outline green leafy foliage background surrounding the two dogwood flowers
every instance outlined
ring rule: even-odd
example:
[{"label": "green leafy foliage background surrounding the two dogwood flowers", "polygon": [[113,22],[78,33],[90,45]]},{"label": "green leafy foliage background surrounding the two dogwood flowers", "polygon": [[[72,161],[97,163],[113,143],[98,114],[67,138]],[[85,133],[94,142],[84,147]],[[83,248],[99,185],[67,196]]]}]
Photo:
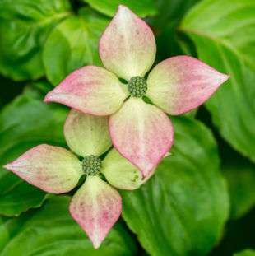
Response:
[{"label": "green leafy foliage background surrounding the two dogwood flowers", "polygon": [[[67,207],[0,168],[1,256],[255,255],[254,0],[0,0],[0,165],[39,143],[67,147],[68,108],[44,95],[102,65],[100,35],[118,4],[151,26],[155,63],[185,54],[231,77],[197,111],[169,117],[172,156],[136,191],[94,250]],[[254,251],[253,251],[254,249]]]}]

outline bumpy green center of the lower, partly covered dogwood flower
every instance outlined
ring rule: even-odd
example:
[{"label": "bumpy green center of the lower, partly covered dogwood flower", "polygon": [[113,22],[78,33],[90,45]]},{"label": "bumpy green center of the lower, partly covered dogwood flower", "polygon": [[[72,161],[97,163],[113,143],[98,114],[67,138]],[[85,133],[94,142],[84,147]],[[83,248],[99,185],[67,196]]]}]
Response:
[{"label": "bumpy green center of the lower, partly covered dogwood flower", "polygon": [[97,175],[101,171],[101,160],[98,156],[85,156],[82,161],[82,170],[86,175]]}]

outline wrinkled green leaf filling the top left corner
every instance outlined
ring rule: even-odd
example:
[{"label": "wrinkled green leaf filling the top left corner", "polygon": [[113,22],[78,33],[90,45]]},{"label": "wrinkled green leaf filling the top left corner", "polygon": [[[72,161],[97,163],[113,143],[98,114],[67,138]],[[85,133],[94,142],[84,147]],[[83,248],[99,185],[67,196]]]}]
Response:
[{"label": "wrinkled green leaf filling the top left corner", "polygon": [[67,0],[0,2],[0,71],[21,81],[44,75],[42,47],[50,31],[71,14]]}]

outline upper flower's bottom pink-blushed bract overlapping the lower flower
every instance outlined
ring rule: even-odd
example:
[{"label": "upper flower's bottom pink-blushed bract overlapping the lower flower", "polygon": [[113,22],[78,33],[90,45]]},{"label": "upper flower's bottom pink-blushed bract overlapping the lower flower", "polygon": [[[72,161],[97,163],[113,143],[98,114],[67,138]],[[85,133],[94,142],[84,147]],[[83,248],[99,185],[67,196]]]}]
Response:
[{"label": "upper flower's bottom pink-blushed bract overlapping the lower flower", "polygon": [[131,97],[109,118],[109,134],[116,150],[146,177],[174,142],[174,128],[165,113]]}]

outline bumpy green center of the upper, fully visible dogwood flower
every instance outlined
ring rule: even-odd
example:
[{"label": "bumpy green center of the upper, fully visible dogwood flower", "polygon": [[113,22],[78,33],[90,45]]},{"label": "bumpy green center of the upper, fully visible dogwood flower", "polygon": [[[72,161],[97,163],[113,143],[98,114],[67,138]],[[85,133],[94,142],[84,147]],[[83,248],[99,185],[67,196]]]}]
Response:
[{"label": "bumpy green center of the upper, fully visible dogwood flower", "polygon": [[147,83],[144,77],[132,77],[128,81],[128,91],[133,97],[142,97],[146,94]]}]

